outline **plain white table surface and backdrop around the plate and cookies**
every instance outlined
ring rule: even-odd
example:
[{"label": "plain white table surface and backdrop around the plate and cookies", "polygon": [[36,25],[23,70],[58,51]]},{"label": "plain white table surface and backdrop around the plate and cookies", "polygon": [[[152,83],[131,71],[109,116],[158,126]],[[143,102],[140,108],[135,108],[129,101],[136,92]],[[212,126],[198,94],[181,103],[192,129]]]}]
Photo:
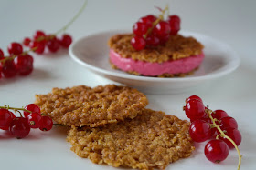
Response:
[{"label": "plain white table surface and backdrop around the plate and cookies", "polygon": [[[13,41],[22,41],[37,29],[54,33],[80,9],[83,0],[1,0],[0,48]],[[199,95],[212,109],[223,109],[236,118],[242,134],[241,169],[256,169],[256,1],[240,0],[90,0],[80,18],[69,27],[74,40],[84,35],[117,28],[131,28],[141,16],[157,14],[154,6],[170,6],[171,14],[180,15],[182,29],[212,36],[236,50],[240,67],[232,74],[215,80],[207,89],[179,95],[147,95],[148,107],[187,119],[182,111],[184,99]],[[52,87],[73,85],[106,85],[113,82],[93,75],[69,58],[68,51],[57,55],[33,55],[35,69],[31,75],[0,80],[0,105],[23,106],[33,103],[35,94],[48,93]],[[69,150],[65,132],[53,128],[44,133],[32,130],[22,140],[0,131],[1,169],[117,169],[94,165]],[[235,150],[219,165],[209,162],[203,153],[204,144],[187,159],[166,169],[236,169]]]}]

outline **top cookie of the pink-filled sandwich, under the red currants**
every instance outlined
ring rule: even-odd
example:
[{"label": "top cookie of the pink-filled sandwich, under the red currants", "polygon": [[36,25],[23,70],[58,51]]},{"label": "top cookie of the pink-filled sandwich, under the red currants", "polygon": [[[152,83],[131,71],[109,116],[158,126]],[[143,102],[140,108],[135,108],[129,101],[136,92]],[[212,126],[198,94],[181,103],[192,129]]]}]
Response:
[{"label": "top cookie of the pink-filled sandwich, under the red currants", "polygon": [[108,44],[123,58],[132,58],[151,63],[163,63],[168,60],[177,60],[191,55],[199,55],[204,48],[195,38],[182,35],[171,35],[165,45],[145,48],[136,51],[131,45],[133,34],[113,35]]}]

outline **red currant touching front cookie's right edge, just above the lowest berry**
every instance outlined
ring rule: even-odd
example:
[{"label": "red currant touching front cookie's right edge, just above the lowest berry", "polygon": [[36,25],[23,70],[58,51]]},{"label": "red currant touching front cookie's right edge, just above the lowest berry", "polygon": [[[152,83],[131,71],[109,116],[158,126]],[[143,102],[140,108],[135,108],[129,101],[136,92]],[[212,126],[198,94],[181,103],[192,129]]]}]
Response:
[{"label": "red currant touching front cookie's right edge, just above the lowest berry", "polygon": [[211,136],[210,125],[203,120],[196,120],[189,127],[189,135],[195,142],[204,142]]}]

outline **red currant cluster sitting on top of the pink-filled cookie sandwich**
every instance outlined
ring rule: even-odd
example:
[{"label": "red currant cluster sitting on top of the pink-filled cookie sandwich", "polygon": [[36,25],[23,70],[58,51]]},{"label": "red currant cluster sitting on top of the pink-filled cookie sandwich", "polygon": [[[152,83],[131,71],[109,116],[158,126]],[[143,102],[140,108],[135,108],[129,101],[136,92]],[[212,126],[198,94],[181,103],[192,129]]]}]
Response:
[{"label": "red currant cluster sitting on top of the pink-filled cookie sandwich", "polygon": [[[166,9],[165,9],[166,10]],[[164,20],[163,15],[146,15],[133,25],[134,37],[131,45],[135,50],[143,50],[146,46],[154,47],[165,45],[170,35],[176,35],[180,29],[180,18],[177,15],[168,15]]]}]

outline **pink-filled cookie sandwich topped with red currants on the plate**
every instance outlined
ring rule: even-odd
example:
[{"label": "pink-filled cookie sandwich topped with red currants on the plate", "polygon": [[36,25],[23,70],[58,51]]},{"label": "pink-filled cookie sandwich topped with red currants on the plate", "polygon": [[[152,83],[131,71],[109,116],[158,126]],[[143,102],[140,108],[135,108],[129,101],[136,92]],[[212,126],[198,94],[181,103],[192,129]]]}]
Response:
[{"label": "pink-filled cookie sandwich topped with red currants on the plate", "polygon": [[[165,13],[165,10],[162,10]],[[194,37],[179,35],[180,18],[146,15],[133,25],[133,33],[113,35],[112,68],[133,75],[173,77],[192,74],[202,64],[203,48]]]}]

